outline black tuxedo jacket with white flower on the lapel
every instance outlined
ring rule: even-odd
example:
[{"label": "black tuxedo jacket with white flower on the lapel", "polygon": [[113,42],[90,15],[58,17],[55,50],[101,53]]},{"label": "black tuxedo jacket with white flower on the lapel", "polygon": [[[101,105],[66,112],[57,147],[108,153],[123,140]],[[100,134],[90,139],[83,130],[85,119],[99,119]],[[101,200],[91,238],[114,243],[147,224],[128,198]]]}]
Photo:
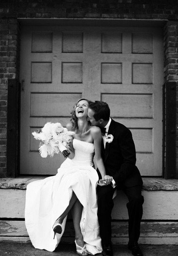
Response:
[{"label": "black tuxedo jacket with white flower on the lapel", "polygon": [[104,148],[102,140],[101,148],[106,174],[113,177],[118,188],[142,186],[143,181],[135,165],[136,151],[131,131],[112,119],[108,130],[109,134],[113,135],[113,141],[107,142]]}]

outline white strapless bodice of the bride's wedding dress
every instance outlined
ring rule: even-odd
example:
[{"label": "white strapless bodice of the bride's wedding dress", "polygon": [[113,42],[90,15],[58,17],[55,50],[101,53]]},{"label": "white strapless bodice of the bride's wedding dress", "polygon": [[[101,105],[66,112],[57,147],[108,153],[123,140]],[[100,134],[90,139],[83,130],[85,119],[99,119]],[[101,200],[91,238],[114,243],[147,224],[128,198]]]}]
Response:
[{"label": "white strapless bodice of the bride's wedding dress", "polygon": [[80,165],[94,166],[94,144],[85,142],[82,140],[73,139],[73,148],[75,150],[75,156],[72,161]]}]

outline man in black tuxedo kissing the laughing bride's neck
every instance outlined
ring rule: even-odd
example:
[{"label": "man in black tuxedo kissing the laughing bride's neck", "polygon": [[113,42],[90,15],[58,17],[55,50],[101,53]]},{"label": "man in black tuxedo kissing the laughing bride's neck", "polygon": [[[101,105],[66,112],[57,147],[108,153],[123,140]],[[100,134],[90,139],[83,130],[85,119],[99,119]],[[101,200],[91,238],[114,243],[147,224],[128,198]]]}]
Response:
[{"label": "man in black tuxedo kissing the laughing bride's neck", "polygon": [[[136,151],[132,134],[126,126],[110,118],[106,102],[95,101],[89,104],[88,119],[92,125],[99,126],[102,132],[101,154],[109,185],[98,186],[98,220],[104,256],[113,255],[111,245],[111,212],[115,188],[122,189],[128,198],[129,242],[133,255],[143,255],[138,245],[140,222],[143,214],[144,198],[141,195],[143,181],[136,167]],[[108,138],[109,137],[109,138]],[[99,179],[101,175],[98,172]],[[104,180],[103,180],[104,181]],[[103,184],[104,185],[104,184]]]}]

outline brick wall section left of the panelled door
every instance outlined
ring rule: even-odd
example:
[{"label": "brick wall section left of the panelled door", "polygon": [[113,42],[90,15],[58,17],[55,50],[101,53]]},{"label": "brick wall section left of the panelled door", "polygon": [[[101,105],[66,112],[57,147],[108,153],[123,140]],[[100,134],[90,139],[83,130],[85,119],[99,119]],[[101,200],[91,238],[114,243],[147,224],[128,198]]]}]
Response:
[{"label": "brick wall section left of the panelled door", "polygon": [[17,19],[0,20],[0,177],[6,176],[7,85],[19,72],[18,35]]}]

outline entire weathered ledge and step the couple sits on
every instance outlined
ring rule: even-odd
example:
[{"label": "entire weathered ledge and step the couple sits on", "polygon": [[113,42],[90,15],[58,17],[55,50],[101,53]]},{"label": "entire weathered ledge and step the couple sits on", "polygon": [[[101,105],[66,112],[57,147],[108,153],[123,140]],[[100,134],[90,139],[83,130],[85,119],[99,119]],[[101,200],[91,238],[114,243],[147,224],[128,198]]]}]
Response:
[{"label": "entire weathered ledge and step the couple sits on", "polygon": [[[45,177],[0,179],[0,241],[30,242],[24,225],[26,185]],[[143,244],[178,244],[178,182],[161,178],[144,178],[143,218],[140,242]],[[127,197],[117,191],[112,211],[112,241],[128,242]],[[73,243],[73,225],[68,215],[63,242]]]}]

